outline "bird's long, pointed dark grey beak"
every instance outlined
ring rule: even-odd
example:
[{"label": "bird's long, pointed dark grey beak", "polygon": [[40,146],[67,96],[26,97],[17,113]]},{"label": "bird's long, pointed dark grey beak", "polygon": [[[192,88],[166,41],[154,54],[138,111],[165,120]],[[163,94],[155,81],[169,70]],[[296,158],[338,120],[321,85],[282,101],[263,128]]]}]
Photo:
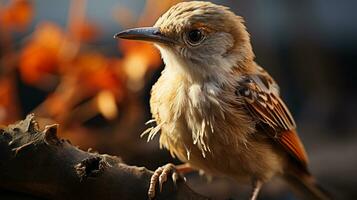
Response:
[{"label": "bird's long, pointed dark grey beak", "polygon": [[128,40],[143,40],[150,42],[158,42],[163,44],[175,44],[176,41],[164,36],[159,28],[156,27],[143,27],[133,28],[122,31],[114,35],[114,38],[122,38]]}]

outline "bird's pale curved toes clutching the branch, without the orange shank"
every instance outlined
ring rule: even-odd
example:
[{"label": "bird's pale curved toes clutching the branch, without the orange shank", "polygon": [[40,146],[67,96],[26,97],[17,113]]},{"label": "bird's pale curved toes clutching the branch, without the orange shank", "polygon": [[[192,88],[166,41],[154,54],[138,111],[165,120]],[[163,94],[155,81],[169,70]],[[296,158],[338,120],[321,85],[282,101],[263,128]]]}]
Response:
[{"label": "bird's pale curved toes clutching the branch, without the orange shank", "polygon": [[167,177],[171,174],[171,179],[176,186],[176,182],[181,178],[178,173],[176,166],[169,163],[155,170],[154,174],[151,176],[150,186],[148,190],[149,199],[155,197],[156,184],[159,182],[160,192],[162,192],[162,186],[167,181]]}]

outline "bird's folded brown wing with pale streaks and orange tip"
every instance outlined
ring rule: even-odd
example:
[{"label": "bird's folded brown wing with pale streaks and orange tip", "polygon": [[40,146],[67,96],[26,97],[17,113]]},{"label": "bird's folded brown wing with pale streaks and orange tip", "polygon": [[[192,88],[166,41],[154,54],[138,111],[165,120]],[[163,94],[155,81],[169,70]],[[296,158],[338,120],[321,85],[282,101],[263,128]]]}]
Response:
[{"label": "bird's folded brown wing with pale streaks and orange tip", "polygon": [[263,70],[243,76],[238,81],[236,94],[244,99],[245,107],[257,121],[257,126],[306,168],[308,158],[295,131],[295,121],[271,76]]}]

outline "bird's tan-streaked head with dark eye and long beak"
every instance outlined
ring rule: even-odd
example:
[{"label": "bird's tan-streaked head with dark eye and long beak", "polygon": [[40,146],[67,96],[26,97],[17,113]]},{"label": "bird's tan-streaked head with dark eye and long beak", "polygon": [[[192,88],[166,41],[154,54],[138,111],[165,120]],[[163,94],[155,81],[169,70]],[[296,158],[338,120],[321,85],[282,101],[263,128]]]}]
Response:
[{"label": "bird's tan-streaked head with dark eye and long beak", "polygon": [[210,2],[176,4],[153,27],[125,30],[115,37],[153,42],[166,67],[193,79],[218,78],[254,58],[243,19]]}]

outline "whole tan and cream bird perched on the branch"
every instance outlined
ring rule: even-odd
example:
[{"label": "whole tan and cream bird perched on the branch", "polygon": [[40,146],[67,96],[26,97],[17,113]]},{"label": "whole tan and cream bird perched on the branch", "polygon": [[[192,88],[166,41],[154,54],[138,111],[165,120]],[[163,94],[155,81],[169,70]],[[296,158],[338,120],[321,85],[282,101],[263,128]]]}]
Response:
[{"label": "whole tan and cream bird perched on the branch", "polygon": [[278,83],[255,61],[245,21],[230,8],[181,2],[152,27],[115,38],[152,42],[165,64],[153,85],[155,122],[143,135],[160,134],[160,147],[184,164],[159,167],[149,199],[169,176],[203,171],[251,184],[251,200],[271,178],[286,180],[307,199],[330,199],[308,169],[308,156]]}]

